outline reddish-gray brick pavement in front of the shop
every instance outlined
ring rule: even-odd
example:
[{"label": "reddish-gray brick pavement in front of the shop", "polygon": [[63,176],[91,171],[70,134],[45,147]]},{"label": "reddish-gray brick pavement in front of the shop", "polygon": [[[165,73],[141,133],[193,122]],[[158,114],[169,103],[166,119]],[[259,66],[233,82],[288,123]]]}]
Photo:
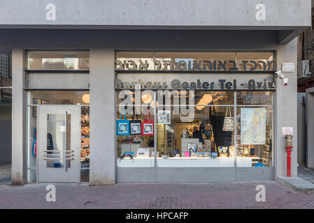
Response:
[{"label": "reddish-gray brick pavement in front of the shop", "polygon": [[[266,201],[257,202],[256,185]],[[45,184],[0,185],[0,208],[314,208],[314,194],[294,192],[275,181],[215,184],[55,184],[57,201],[45,201]]]}]

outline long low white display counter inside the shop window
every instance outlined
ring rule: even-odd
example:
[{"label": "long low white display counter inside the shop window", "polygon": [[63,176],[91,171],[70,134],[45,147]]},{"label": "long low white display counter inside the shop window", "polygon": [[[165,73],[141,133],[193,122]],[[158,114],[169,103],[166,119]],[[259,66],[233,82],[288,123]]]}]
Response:
[{"label": "long low white display counter inside the shop window", "polygon": [[[234,157],[157,157],[157,167],[234,167]],[[236,167],[252,167],[255,157],[236,158]],[[154,157],[117,159],[117,167],[155,167]]]}]

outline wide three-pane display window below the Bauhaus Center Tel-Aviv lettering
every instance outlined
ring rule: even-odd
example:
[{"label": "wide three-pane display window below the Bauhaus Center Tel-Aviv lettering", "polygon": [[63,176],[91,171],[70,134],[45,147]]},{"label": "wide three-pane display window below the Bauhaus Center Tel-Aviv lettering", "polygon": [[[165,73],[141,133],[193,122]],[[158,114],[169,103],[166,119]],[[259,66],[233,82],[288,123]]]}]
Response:
[{"label": "wide three-pane display window below the Bauhaus Center Tel-Aviv lettering", "polygon": [[116,92],[117,167],[272,166],[269,91]]}]

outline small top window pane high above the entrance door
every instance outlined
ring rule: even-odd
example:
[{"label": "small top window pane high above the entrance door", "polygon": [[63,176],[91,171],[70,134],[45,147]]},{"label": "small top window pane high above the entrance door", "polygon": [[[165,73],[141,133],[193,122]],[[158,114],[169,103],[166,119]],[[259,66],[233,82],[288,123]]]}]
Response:
[{"label": "small top window pane high above the entrance door", "polygon": [[89,51],[29,51],[29,70],[89,70]]}]

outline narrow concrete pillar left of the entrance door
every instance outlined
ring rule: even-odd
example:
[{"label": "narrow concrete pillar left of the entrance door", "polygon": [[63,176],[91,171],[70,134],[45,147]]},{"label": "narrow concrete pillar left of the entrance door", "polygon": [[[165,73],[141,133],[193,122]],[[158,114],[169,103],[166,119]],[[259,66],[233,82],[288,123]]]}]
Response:
[{"label": "narrow concrete pillar left of the entrance door", "polygon": [[12,184],[26,180],[26,93],[23,90],[24,50],[12,49]]}]

